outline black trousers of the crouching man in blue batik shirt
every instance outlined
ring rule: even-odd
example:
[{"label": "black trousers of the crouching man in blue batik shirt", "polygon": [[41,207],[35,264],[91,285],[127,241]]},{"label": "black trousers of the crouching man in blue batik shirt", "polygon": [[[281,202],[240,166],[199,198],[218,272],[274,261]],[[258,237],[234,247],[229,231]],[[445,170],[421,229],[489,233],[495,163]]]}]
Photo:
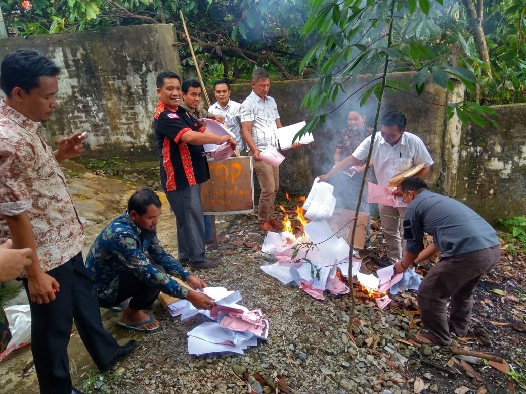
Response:
[{"label": "black trousers of the crouching man in blue batik shirt", "polygon": [[[146,254],[150,262],[153,261],[149,254]],[[160,264],[154,264],[154,267],[159,271],[166,273],[165,268]],[[107,308],[117,306],[125,299],[130,299],[129,307],[131,309],[151,309],[154,305],[160,289],[149,287],[147,284],[139,281],[131,269],[124,269],[119,274],[119,291],[117,299],[114,302],[108,301],[104,298],[99,298],[100,306]]]}]

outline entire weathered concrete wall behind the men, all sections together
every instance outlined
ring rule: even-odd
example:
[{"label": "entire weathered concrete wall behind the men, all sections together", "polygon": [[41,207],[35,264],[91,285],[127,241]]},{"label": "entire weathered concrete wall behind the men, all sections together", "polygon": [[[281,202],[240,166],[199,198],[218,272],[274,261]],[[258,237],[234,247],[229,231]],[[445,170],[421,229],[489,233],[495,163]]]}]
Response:
[{"label": "entire weathered concrete wall behind the men, all sections together", "polygon": [[[52,120],[43,126],[46,140],[58,140],[77,131],[88,131],[92,154],[120,149],[125,155],[151,152],[158,155],[151,122],[157,103],[155,77],[159,71],[180,70],[171,25],[127,26],[48,36],[0,40],[0,56],[16,48],[31,47],[52,57],[63,67],[59,76],[59,107]],[[412,85],[413,74],[391,74],[389,79]],[[348,83],[342,102],[365,86],[370,77]],[[313,80],[273,81],[270,96],[278,103],[284,125],[309,120],[301,100]],[[249,84],[232,85],[232,99],[242,101]],[[414,92],[414,89],[412,89]],[[209,96],[214,95],[209,89]],[[310,148],[284,152],[281,189],[295,195],[306,194],[313,179],[332,165],[336,137],[347,127],[349,109],[356,108],[359,95],[340,108],[335,105],[327,123],[313,132]],[[462,88],[450,93],[432,81],[421,97],[399,91],[386,91],[382,112],[406,113],[409,131],[426,143],[436,161],[427,177],[434,190],[465,201],[488,220],[524,214],[526,174],[526,130],[522,120],[524,105],[495,107],[500,129],[462,127],[456,117],[446,119],[448,102],[462,99]],[[367,124],[373,125],[377,101],[366,104]],[[130,150],[133,149],[133,150]],[[87,152],[86,154],[89,154]],[[141,153],[143,154],[143,153]]]}]

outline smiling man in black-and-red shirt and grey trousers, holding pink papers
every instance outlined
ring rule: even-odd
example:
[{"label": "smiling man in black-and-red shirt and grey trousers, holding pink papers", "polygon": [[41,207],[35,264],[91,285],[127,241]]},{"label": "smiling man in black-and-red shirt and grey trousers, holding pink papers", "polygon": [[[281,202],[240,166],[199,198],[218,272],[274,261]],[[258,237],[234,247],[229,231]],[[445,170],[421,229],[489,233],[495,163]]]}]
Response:
[{"label": "smiling man in black-and-red shirt and grey trousers, holding pink papers", "polygon": [[179,263],[190,264],[192,269],[215,267],[220,258],[205,257],[201,183],[210,178],[210,173],[203,144],[228,142],[235,149],[236,141],[216,136],[180,107],[181,80],[177,74],[161,72],[156,85],[155,139],[161,154],[161,185],[176,218]]}]

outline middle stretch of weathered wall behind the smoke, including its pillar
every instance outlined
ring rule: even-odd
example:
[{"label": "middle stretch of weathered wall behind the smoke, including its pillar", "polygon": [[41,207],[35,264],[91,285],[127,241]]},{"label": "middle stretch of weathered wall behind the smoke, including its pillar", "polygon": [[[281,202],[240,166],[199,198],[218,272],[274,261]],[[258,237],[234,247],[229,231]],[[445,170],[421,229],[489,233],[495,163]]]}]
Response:
[{"label": "middle stretch of weathered wall behind the smoke, including its pillar", "polygon": [[[391,74],[389,78],[412,84],[413,73],[401,72]],[[355,85],[345,86],[348,94],[367,84],[370,77],[359,78]],[[311,119],[310,113],[300,110],[301,100],[307,94],[309,88],[315,83],[313,80],[275,81],[270,86],[269,96],[276,99],[281,123],[290,125],[301,120]],[[250,94],[249,85],[232,85],[231,98],[242,101]],[[413,90],[414,91],[414,90]],[[210,91],[211,92],[211,91]],[[210,96],[213,97],[213,94]],[[339,102],[345,99],[342,97]],[[356,103],[358,99],[354,102]],[[430,83],[420,98],[416,98],[402,92],[392,93],[386,91],[383,100],[383,111],[402,111],[407,116],[407,128],[416,133],[426,143],[431,156],[436,164],[433,165],[427,180],[432,185],[439,187],[443,182],[444,167],[446,167],[443,151],[443,141],[447,134],[447,122],[444,110],[448,100],[446,91],[437,85]],[[436,104],[432,104],[436,103]],[[377,101],[372,98],[366,105],[367,124],[373,125]],[[351,101],[346,102],[341,108],[328,117],[323,128],[313,132],[315,142],[310,148],[289,150],[284,152],[286,160],[280,166],[281,188],[292,193],[305,193],[310,189],[313,179],[327,172],[332,167],[332,157],[336,145],[338,132],[347,125],[348,112],[350,108],[359,108]],[[328,108],[333,109],[331,107]]]}]

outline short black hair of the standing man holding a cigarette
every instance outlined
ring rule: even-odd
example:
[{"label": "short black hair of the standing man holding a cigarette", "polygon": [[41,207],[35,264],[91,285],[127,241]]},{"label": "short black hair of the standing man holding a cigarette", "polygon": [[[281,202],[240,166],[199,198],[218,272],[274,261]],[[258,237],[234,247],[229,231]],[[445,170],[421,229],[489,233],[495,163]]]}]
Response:
[{"label": "short black hair of the standing man holding a cigarette", "polygon": [[60,67],[35,49],[18,49],[6,55],[0,66],[0,88],[7,97],[19,87],[26,93],[40,86],[40,77],[54,77]]}]

